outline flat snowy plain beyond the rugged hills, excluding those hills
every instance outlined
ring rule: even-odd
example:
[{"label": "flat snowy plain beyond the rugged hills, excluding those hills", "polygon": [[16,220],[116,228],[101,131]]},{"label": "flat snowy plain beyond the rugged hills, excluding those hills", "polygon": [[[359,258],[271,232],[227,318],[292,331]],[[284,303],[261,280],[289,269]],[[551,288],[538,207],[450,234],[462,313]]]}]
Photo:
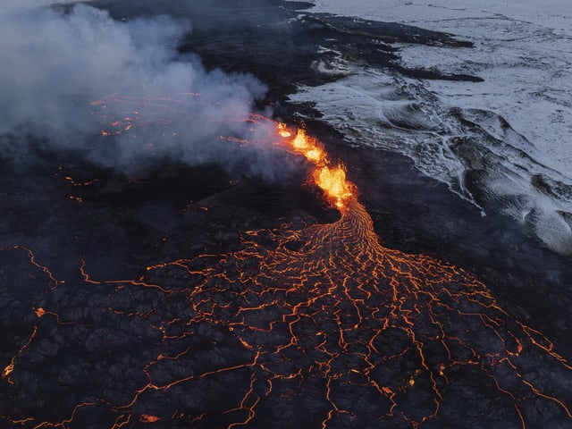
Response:
[{"label": "flat snowy plain beyond the rugged hills, excluding those hills", "polygon": [[572,176],[572,2],[317,0],[315,11],[401,22],[455,34],[475,49],[404,46],[411,66],[476,74],[484,83],[426,81],[449,105],[492,110]]}]

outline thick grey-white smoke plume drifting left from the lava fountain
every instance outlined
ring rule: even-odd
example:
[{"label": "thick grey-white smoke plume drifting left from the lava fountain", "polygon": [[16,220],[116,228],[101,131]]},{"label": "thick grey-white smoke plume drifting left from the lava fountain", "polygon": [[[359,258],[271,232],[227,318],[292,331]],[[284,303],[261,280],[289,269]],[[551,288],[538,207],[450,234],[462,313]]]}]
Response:
[{"label": "thick grey-white smoke plume drifting left from the lava fountain", "polygon": [[[0,158],[26,154],[31,137],[51,148],[79,150],[100,164],[130,168],[146,156],[147,146],[121,138],[105,150],[91,145],[89,137],[106,124],[90,102],[114,93],[140,98],[198,92],[201,103],[179,104],[171,112],[184,117],[186,126],[176,138],[156,142],[153,153],[189,164],[218,160],[216,136],[246,130],[244,122],[225,120],[246,119],[266,88],[251,75],[206,71],[196,55],[181,56],[177,44],[190,30],[189,21],[170,16],[114,21],[85,4],[67,12],[6,7],[0,12]],[[108,105],[105,114],[119,116],[121,108]],[[139,121],[154,119],[145,115],[141,111]]]}]

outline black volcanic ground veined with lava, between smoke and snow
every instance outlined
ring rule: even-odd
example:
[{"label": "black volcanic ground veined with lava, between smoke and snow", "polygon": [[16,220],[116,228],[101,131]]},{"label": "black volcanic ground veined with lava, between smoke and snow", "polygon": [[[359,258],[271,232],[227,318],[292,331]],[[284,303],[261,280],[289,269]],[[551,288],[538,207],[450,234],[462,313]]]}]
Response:
[{"label": "black volcanic ground veined with lava, between smoke and snow", "polygon": [[[257,92],[242,74],[198,80],[202,98],[212,95],[198,106],[143,88],[131,98],[66,93],[106,135],[71,125],[87,142],[78,149],[51,143],[61,134],[42,136],[42,127],[2,129],[2,425],[572,425],[569,257],[509,216],[482,216],[405,156],[349,145],[315,106],[289,100],[298,86],[340,79],[332,68],[340,58],[408,78],[477,81],[400,63],[402,44],[454,50],[469,42],[301,12],[305,4],[294,2],[93,5],[118,23],[188,19],[191,27],[165,42],[175,60],[264,83],[265,96],[245,105],[304,122],[324,142],[347,166],[379,242],[363,232],[367,223],[352,230],[354,218],[324,199],[299,156],[253,149],[250,139],[264,134],[218,125],[242,104],[224,107],[231,95],[217,85]],[[145,36],[145,26],[138,31]],[[203,109],[199,121],[181,119]],[[146,111],[153,114],[141,119]],[[22,136],[25,150],[14,149]],[[191,158],[177,146],[187,136],[194,148],[215,150]],[[112,162],[106,147],[133,141],[166,142],[174,155],[120,150]]]}]

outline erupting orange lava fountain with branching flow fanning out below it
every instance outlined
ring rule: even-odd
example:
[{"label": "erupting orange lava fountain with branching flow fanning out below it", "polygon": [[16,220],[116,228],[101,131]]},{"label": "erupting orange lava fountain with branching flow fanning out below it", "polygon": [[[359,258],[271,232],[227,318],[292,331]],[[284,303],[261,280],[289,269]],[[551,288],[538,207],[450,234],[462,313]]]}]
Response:
[{"label": "erupting orange lava fountain with branching flow fanning out below it", "polygon": [[[304,130],[275,124],[275,134],[277,145],[306,157],[340,219],[248,230],[239,250],[150,265],[135,280],[99,279],[84,261],[74,287],[89,290],[85,302],[62,299],[71,285],[38,271],[24,253],[36,276],[56,286],[30,309],[31,334],[18,337],[4,368],[13,403],[20,394],[38,402],[2,408],[4,422],[38,429],[572,425],[572,389],[563,382],[572,366],[548,338],[509,315],[470,273],[384,248],[343,164]],[[42,393],[41,379],[20,387],[42,341],[60,350],[45,359],[44,376],[60,381],[61,403]],[[88,353],[80,364],[55,364],[75,349]]]}]

